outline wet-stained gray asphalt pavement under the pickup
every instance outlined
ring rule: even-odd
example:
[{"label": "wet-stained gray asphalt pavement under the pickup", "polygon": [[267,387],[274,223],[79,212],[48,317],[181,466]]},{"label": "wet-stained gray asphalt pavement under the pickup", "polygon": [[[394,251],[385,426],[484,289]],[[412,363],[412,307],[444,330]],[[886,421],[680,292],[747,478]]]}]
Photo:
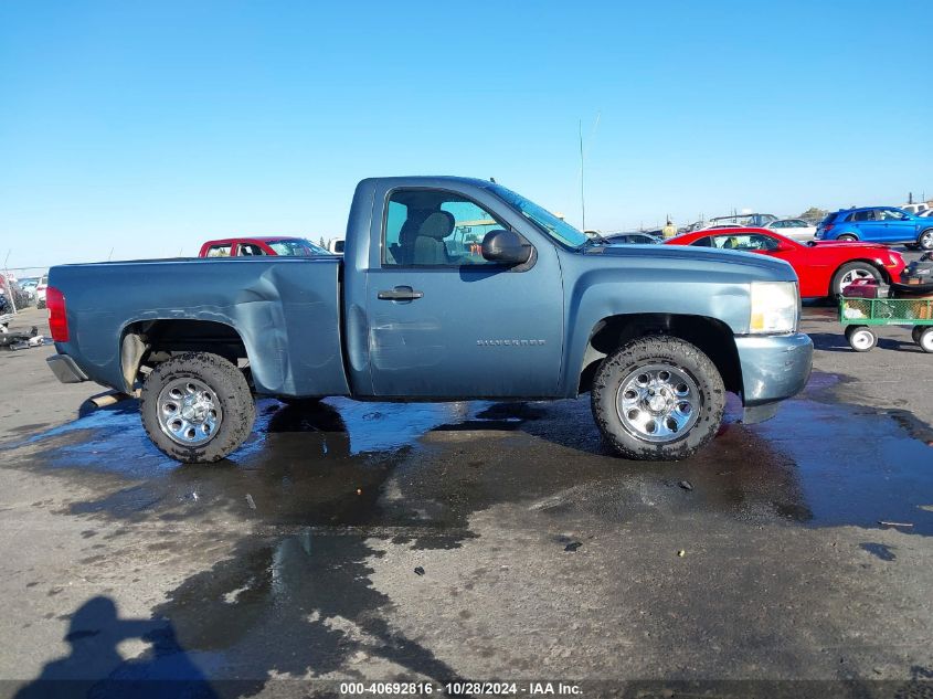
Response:
[{"label": "wet-stained gray asphalt pavement under the pickup", "polygon": [[0,693],[931,696],[933,357],[901,328],[856,353],[828,306],[804,330],[805,392],[761,425],[733,401],[676,464],[612,455],[584,396],[263,400],[180,466],[53,348],[0,353]]}]

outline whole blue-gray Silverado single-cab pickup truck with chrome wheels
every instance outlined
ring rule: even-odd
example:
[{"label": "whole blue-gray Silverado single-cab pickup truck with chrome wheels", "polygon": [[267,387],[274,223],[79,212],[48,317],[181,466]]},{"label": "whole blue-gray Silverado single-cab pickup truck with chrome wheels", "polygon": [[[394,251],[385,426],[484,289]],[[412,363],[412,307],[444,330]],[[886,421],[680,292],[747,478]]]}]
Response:
[{"label": "whole blue-gray Silverado single-cab pickup truck with chrome wheels", "polygon": [[495,183],[360,182],[343,257],[64,265],[47,306],[65,382],[140,395],[180,462],[252,428],[254,396],[569,399],[590,392],[628,458],[678,459],[720,427],[725,393],[770,417],[810,372],[784,262],[611,245]]}]

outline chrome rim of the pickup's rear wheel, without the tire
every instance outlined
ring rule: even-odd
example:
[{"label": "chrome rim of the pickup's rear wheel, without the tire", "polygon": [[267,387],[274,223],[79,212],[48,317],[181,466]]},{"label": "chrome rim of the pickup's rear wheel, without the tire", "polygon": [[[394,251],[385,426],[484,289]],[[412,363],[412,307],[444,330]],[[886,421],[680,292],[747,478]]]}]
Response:
[{"label": "chrome rim of the pickup's rear wheel, without the tire", "polygon": [[182,446],[210,442],[223,421],[216,394],[197,379],[176,379],[159,392],[159,427]]}]

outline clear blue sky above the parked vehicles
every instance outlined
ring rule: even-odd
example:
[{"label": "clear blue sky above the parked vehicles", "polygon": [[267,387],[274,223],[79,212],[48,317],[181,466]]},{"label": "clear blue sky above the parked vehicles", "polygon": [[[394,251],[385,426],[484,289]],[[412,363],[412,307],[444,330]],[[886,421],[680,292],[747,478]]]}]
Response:
[{"label": "clear blue sky above the parked vehicles", "polygon": [[0,256],[342,236],[380,174],[579,225],[580,119],[587,227],[933,197],[931,56],[929,0],[0,0]]}]

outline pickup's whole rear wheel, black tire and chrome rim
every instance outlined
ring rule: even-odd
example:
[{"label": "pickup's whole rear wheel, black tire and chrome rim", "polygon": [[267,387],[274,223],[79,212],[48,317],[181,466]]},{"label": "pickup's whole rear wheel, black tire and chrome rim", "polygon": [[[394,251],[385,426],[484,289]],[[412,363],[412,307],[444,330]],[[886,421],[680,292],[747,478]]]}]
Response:
[{"label": "pickup's whole rear wheel, black tire and chrome rim", "polygon": [[256,420],[243,372],[208,352],[188,352],[158,364],[142,384],[139,411],[152,443],[185,464],[229,456]]}]

